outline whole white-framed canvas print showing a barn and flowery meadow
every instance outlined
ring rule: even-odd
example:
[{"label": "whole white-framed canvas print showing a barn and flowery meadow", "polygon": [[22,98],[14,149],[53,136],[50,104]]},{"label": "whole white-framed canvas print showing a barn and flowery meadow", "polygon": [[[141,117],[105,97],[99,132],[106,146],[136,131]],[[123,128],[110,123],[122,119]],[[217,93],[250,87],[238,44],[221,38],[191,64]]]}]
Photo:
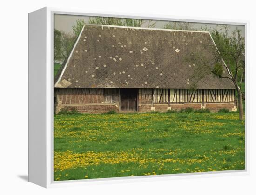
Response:
[{"label": "whole white-framed canvas print showing a barn and flowery meadow", "polygon": [[246,27],[29,13],[29,181],[246,171]]}]

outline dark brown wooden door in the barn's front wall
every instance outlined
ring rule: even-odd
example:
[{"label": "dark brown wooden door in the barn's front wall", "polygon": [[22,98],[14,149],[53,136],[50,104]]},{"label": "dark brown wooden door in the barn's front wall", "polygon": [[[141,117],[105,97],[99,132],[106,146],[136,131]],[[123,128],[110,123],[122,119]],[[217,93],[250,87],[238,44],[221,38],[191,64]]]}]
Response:
[{"label": "dark brown wooden door in the barn's front wall", "polygon": [[120,89],[121,111],[137,111],[138,89]]}]

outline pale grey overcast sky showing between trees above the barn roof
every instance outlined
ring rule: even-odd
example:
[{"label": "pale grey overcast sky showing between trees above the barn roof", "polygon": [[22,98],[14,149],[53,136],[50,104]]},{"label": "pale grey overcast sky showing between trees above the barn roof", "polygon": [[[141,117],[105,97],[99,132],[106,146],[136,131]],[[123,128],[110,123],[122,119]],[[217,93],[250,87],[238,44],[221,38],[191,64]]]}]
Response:
[{"label": "pale grey overcast sky showing between trees above the barn roof", "polygon": [[[72,26],[75,25],[77,19],[84,19],[88,24],[88,16],[76,16],[76,15],[63,15],[63,14],[54,14],[54,28],[66,33],[73,33]],[[145,20],[148,21],[148,20]],[[155,28],[163,28],[163,26],[168,23],[168,21],[154,20]],[[144,23],[144,26],[147,27],[147,22]],[[194,29],[200,30],[201,28],[216,29],[216,24],[207,24],[207,23],[191,23],[191,27]],[[229,25],[228,33],[231,34],[235,29],[240,29],[242,31],[242,36],[244,37],[245,28],[243,25]]]}]

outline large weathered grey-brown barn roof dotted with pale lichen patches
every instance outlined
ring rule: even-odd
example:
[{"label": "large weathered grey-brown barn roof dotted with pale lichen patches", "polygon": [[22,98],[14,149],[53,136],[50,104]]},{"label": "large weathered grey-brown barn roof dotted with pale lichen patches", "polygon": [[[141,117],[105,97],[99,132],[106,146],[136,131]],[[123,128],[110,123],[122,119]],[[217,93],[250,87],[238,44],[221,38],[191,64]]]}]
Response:
[{"label": "large weathered grey-brown barn roof dotted with pale lichen patches", "polygon": [[86,25],[54,87],[233,89],[229,79],[210,72],[197,76],[201,65],[188,56],[199,53],[211,61],[214,52],[205,45],[217,51],[204,31]]}]

